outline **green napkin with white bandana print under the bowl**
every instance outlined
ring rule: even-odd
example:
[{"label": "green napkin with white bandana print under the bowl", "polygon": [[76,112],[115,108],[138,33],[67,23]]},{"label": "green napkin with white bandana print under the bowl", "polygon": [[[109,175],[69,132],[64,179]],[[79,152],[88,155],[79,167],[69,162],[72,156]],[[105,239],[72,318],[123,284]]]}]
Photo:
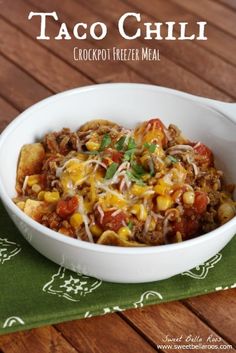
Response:
[{"label": "green napkin with white bandana print under the bowl", "polygon": [[236,239],[205,264],[159,282],[115,284],[35,251],[0,203],[0,333],[104,315],[235,287]]}]

